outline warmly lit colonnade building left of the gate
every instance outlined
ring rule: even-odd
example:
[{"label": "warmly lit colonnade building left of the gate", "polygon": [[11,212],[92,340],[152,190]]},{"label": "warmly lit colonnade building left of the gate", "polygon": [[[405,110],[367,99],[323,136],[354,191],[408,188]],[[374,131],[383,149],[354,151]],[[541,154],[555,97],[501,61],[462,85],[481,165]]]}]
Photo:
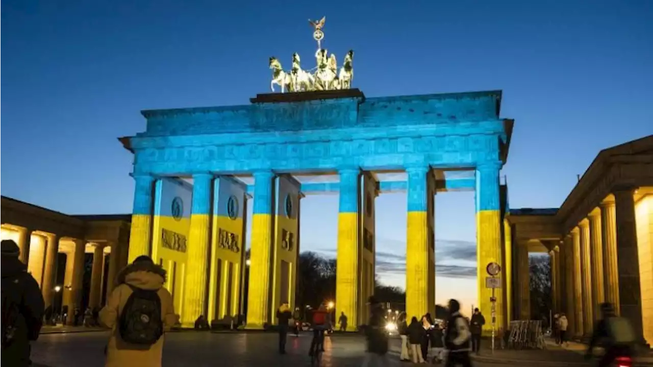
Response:
[{"label": "warmly lit colonnade building left of the gate", "polygon": [[[69,321],[75,308],[102,306],[110,295],[127,263],[130,221],[129,214],[66,215],[0,196],[0,240],[18,244],[46,307],[67,306]],[[93,257],[88,294],[82,293],[85,254]]]}]

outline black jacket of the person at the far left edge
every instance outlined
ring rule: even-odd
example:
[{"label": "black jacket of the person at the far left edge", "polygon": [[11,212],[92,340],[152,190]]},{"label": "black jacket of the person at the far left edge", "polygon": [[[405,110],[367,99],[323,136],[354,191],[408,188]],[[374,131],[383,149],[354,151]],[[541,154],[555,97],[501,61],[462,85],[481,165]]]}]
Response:
[{"label": "black jacket of the person at the far left edge", "polygon": [[0,365],[29,366],[29,342],[39,338],[45,308],[39,283],[18,257],[0,255],[0,287],[20,308],[14,340],[0,351]]}]

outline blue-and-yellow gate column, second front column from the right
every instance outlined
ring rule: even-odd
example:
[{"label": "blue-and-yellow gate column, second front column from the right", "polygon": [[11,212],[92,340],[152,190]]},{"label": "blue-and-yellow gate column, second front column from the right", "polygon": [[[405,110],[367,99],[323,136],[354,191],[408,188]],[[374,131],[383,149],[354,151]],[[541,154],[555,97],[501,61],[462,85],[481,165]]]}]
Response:
[{"label": "blue-and-yellow gate column, second front column from the right", "polygon": [[431,287],[435,274],[430,274],[428,256],[428,174],[430,167],[407,168],[406,221],[406,314],[420,317],[430,311]]}]

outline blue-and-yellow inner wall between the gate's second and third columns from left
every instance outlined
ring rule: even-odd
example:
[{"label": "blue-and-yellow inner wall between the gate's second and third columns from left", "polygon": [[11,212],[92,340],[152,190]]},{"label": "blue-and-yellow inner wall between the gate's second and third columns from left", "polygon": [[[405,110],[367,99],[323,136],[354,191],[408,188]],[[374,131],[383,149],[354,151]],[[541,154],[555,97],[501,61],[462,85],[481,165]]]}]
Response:
[{"label": "blue-and-yellow inner wall between the gate's second and third columns from left", "polygon": [[231,177],[214,182],[208,319],[238,317],[245,255],[246,186]]}]

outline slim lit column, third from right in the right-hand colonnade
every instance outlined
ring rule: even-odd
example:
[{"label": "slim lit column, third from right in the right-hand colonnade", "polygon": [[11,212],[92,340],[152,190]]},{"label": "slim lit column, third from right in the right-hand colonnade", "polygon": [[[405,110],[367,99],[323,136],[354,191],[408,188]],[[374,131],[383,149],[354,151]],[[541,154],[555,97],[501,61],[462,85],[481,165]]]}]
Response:
[{"label": "slim lit column, third from right in the right-hand colonnade", "polygon": [[592,325],[601,319],[601,303],[605,302],[603,292],[603,243],[601,241],[601,212],[590,213],[590,252],[592,253]]}]

